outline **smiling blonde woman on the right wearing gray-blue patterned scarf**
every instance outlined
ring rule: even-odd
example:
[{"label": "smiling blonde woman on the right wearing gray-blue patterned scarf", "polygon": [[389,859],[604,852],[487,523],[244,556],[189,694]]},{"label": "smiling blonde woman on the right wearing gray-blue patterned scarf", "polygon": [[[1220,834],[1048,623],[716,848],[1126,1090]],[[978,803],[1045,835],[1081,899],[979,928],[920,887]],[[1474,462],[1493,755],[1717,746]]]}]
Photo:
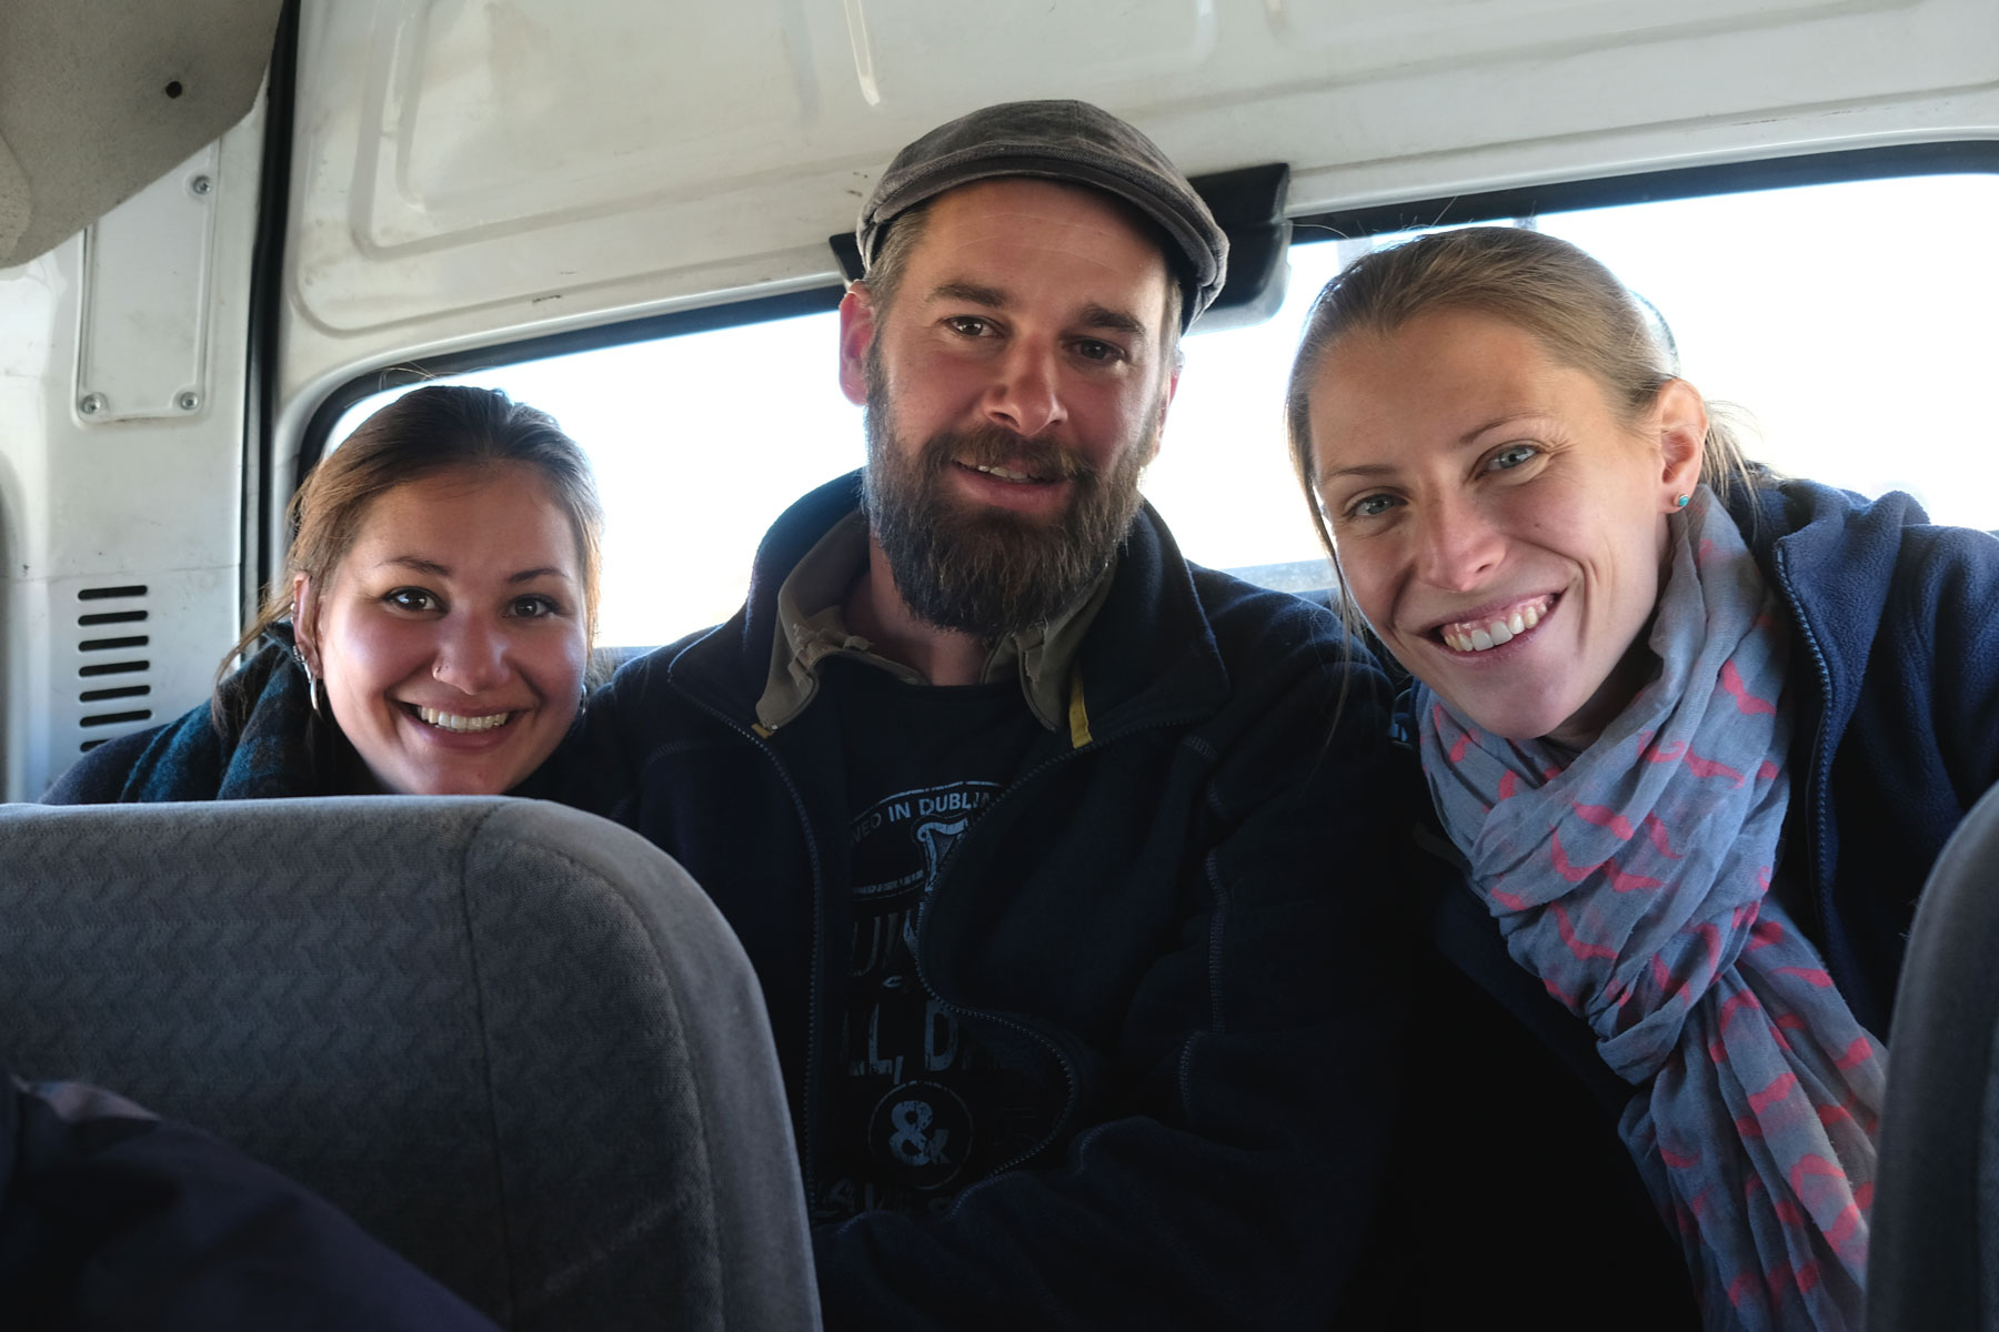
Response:
[{"label": "smiling blonde woman on the right wearing gray-blue patterned scarf", "polygon": [[[1701,1322],[1857,1328],[1903,939],[1999,779],[1999,541],[1749,465],[1663,322],[1531,230],[1349,266],[1287,421],[1347,613],[1413,677],[1439,949],[1515,1034],[1591,1046]],[[1525,1212],[1509,1240],[1565,1256]]]}]

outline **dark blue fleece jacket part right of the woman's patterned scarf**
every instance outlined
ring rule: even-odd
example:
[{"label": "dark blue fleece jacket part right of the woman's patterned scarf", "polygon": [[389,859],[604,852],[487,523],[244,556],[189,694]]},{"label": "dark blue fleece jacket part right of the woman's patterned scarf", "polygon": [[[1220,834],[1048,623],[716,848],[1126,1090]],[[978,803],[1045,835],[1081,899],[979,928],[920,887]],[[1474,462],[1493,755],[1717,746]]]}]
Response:
[{"label": "dark blue fleece jacket part right of the woman's patterned scarf", "polygon": [[1889,1038],[1929,867],[1999,781],[1999,537],[1781,481],[1737,523],[1791,609],[1787,847],[1853,1014]]}]

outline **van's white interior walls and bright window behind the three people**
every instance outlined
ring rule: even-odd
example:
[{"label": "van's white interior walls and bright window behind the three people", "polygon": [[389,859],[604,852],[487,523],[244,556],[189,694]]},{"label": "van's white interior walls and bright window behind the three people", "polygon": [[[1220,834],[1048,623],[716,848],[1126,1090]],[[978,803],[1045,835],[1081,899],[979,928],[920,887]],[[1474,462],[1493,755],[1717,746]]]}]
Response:
[{"label": "van's white interior walls and bright window behind the three people", "polygon": [[436,379],[592,453],[600,651],[728,617],[864,457],[860,202],[1047,96],[1235,238],[1143,483],[1199,563],[1329,585],[1297,330],[1351,258],[1473,222],[1603,258],[1775,469],[1999,529],[1991,0],[4,0],[0,797],[200,705],[304,471]]}]

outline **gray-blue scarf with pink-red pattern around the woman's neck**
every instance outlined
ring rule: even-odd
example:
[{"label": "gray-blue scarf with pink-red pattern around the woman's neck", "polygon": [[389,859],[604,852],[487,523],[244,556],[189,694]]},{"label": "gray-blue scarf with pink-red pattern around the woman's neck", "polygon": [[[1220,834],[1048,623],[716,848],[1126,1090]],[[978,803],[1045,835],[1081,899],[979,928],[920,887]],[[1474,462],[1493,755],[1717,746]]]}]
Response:
[{"label": "gray-blue scarf with pink-red pattern around the woman's neck", "polygon": [[1569,759],[1417,697],[1423,771],[1513,961],[1637,1094],[1619,1134],[1709,1328],[1859,1328],[1885,1050],[1767,895],[1787,635],[1703,487],[1673,525],[1661,661]]}]

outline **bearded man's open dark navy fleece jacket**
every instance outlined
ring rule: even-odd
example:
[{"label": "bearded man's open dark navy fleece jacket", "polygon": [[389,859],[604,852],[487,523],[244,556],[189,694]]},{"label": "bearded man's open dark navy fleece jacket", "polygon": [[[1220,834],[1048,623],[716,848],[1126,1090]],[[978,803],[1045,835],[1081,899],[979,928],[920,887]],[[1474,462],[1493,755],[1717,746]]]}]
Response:
[{"label": "bearded man's open dark navy fleece jacket", "polygon": [[[848,967],[842,741],[832,707],[770,735],[754,707],[778,585],[856,503],[856,475],[806,495],[736,619],[620,671],[572,779],[742,937],[808,1182]],[[1039,737],[940,867],[916,945],[966,1022],[1053,1056],[1059,1122],[944,1216],[822,1228],[830,1328],[1321,1326],[1353,1270],[1413,933],[1389,845],[1415,787],[1383,681],[1321,607],[1187,565],[1149,509],[1077,671],[1087,743]]]}]

